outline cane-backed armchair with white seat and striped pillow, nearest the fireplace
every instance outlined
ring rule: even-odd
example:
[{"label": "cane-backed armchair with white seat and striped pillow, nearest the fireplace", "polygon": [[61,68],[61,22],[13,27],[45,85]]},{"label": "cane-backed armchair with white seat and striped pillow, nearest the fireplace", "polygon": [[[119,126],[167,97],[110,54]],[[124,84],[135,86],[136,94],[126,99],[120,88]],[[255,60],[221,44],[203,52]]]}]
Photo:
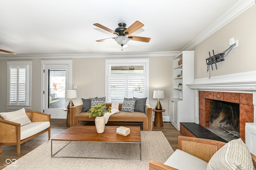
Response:
[{"label": "cane-backed armchair with white seat and striped pillow, nearest the fireplace", "polygon": [[149,170],[254,170],[256,156],[239,138],[228,143],[178,136],[178,149],[163,164],[154,160]]}]

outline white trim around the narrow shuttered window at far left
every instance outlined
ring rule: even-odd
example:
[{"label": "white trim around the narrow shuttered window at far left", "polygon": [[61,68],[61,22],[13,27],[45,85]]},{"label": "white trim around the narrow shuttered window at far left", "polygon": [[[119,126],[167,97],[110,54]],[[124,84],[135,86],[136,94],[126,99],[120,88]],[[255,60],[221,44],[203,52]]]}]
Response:
[{"label": "white trim around the narrow shuttered window at far left", "polygon": [[[25,105],[10,105],[10,66],[26,66],[26,103]],[[7,109],[31,109],[31,77],[32,61],[7,61]]]}]

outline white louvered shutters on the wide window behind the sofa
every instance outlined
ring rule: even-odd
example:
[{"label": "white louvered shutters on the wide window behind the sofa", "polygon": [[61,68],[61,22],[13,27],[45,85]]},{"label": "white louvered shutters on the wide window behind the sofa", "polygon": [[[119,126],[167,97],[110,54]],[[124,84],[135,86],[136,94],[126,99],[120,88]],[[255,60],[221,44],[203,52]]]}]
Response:
[{"label": "white louvered shutters on the wide window behind the sofa", "polygon": [[109,76],[109,102],[123,102],[124,97],[145,97],[145,76]]}]

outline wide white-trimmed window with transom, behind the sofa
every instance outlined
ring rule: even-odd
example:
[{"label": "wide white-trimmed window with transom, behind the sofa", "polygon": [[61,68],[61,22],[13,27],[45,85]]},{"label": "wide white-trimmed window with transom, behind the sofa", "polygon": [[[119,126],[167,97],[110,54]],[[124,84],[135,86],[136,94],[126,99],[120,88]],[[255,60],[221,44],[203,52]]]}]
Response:
[{"label": "wide white-trimmed window with transom, behind the sofa", "polygon": [[106,59],[106,102],[148,97],[149,59]]}]

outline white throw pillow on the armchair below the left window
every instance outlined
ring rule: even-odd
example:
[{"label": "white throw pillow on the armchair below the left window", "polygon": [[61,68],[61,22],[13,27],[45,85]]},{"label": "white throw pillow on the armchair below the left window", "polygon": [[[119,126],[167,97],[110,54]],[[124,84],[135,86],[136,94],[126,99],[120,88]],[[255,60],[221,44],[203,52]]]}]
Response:
[{"label": "white throw pillow on the armchair below the left window", "polygon": [[3,112],[3,113],[0,113],[0,115],[5,121],[20,123],[20,126],[24,126],[29,123],[32,123],[28,118],[28,115],[26,114],[24,108],[18,111]]}]

